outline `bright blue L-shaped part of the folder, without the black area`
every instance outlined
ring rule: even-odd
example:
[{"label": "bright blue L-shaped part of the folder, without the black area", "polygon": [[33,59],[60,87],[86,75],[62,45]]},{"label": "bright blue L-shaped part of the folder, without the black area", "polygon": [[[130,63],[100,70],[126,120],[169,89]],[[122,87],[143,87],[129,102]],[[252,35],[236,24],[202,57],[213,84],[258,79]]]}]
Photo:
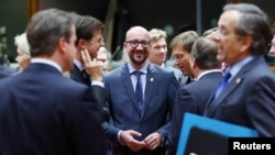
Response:
[{"label": "bright blue L-shaped part of the folder, without the black area", "polygon": [[228,137],[256,137],[258,136],[257,131],[253,129],[186,112],[183,119],[183,125],[180,130],[178,147],[177,147],[177,155],[185,154],[188,136],[189,136],[190,130],[194,126],[200,128],[202,130],[216,132],[218,134],[221,134]]}]

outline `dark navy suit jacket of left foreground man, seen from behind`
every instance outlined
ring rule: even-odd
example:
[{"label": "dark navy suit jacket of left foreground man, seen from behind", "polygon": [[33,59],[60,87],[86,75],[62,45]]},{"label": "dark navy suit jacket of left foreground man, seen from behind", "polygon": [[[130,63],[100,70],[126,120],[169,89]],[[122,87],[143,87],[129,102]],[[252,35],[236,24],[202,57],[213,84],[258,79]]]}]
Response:
[{"label": "dark navy suit jacket of left foreground man, seen from behind", "polygon": [[103,155],[107,144],[90,88],[31,64],[0,81],[1,155]]}]

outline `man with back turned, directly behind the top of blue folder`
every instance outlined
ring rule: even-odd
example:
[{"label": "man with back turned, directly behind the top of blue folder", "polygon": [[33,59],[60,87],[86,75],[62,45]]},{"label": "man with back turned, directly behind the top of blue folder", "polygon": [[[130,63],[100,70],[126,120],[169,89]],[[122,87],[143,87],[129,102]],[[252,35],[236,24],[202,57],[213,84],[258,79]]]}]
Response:
[{"label": "man with back turned, directly behind the top of blue folder", "polygon": [[216,58],[217,52],[218,45],[210,38],[199,37],[193,45],[190,68],[196,80],[177,92],[167,141],[170,155],[176,154],[185,112],[202,115],[206,102],[222,79],[221,63]]}]

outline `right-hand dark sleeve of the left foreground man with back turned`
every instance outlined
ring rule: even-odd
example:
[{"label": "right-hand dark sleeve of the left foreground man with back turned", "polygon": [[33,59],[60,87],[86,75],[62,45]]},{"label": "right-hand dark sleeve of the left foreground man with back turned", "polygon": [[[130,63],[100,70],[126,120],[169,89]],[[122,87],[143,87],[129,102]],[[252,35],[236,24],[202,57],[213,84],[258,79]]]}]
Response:
[{"label": "right-hand dark sleeve of the left foreground man with back turned", "polygon": [[91,95],[90,88],[77,103],[73,125],[73,142],[76,154],[105,155],[107,139],[101,128],[101,114],[98,111],[97,99]]}]

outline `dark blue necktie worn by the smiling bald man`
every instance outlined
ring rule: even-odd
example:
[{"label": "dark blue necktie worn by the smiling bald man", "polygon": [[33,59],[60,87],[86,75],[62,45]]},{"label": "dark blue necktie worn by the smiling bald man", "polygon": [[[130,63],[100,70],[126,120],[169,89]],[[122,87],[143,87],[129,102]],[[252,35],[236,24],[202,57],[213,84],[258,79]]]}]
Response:
[{"label": "dark blue necktie worn by the smiling bald man", "polygon": [[138,106],[140,108],[140,111],[143,111],[143,91],[142,91],[142,80],[141,80],[141,71],[136,70],[134,71],[134,75],[136,76],[136,86],[135,86],[135,98]]}]

